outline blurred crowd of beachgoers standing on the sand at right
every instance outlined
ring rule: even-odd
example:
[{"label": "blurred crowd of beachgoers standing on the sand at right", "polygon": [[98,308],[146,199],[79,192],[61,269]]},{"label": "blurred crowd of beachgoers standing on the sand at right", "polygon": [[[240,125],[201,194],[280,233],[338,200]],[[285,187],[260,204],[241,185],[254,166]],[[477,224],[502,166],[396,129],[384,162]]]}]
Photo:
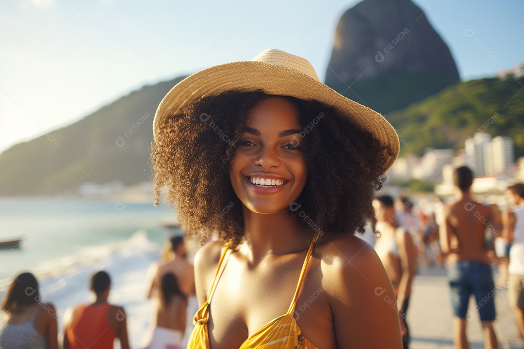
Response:
[{"label": "blurred crowd of beachgoers standing on the sand at right", "polygon": [[[413,207],[406,197],[396,202],[387,195],[374,200],[380,235],[376,239],[363,238],[374,246],[394,287],[405,348],[409,343],[405,320],[411,283],[422,265],[447,267],[455,347],[469,348],[467,320],[478,311],[485,347],[498,348],[493,328],[494,296],[501,287],[508,289],[509,303],[524,339],[524,184],[507,188],[507,207],[500,211],[497,205],[473,199],[473,178],[470,168],[456,168],[454,202],[435,205],[432,210]],[[492,266],[498,266],[497,283]],[[477,306],[468,310],[472,295]]]}]

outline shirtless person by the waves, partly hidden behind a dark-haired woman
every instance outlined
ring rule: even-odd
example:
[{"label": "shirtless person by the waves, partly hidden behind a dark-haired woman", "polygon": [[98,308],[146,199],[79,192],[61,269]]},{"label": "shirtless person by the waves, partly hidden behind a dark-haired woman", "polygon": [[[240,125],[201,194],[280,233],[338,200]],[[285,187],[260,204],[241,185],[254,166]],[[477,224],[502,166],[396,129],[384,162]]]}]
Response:
[{"label": "shirtless person by the waves, partly hidden behind a dark-haired woman", "polygon": [[160,289],[160,281],[165,273],[173,273],[177,277],[180,290],[187,296],[195,294],[194,269],[186,258],[186,249],[183,237],[173,237],[170,240],[171,250],[168,260],[152,264],[149,267],[149,291],[147,298]]}]

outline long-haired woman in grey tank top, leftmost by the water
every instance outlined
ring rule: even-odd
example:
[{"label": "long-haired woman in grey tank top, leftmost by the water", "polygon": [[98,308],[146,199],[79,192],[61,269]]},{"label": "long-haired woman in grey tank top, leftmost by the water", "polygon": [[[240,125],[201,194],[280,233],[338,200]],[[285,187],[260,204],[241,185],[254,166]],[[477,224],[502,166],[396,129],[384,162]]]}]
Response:
[{"label": "long-haired woman in grey tank top, leftmost by the water", "polygon": [[31,273],[15,277],[2,311],[6,322],[0,329],[1,349],[58,349],[56,311],[52,304],[42,302],[38,282]]}]

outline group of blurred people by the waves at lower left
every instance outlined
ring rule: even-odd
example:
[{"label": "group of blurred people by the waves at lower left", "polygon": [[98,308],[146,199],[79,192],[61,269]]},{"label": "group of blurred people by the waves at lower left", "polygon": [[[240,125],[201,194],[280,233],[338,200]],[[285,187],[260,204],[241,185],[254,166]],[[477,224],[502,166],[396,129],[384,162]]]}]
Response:
[{"label": "group of blurred people by the waves at lower left", "polygon": [[[147,298],[152,299],[151,321],[140,348],[181,349],[187,327],[188,298],[194,296],[193,267],[185,258],[182,237],[169,241],[166,258],[150,267]],[[16,276],[7,289],[0,328],[2,349],[112,349],[118,339],[129,349],[127,315],[123,307],[108,302],[111,277],[105,271],[91,276],[94,301],[68,308],[64,331],[58,339],[58,314],[51,303],[42,301],[38,282],[31,273]]]}]

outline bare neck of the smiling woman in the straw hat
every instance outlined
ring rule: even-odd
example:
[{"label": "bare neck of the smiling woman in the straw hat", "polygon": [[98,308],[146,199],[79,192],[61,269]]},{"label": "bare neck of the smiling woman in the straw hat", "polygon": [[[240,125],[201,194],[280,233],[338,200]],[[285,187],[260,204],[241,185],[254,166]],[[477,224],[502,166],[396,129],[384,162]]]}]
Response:
[{"label": "bare neck of the smiling woman in the straw hat", "polygon": [[244,241],[242,249],[250,260],[262,257],[295,253],[307,249],[310,235],[294,215],[286,210],[275,213],[255,213],[245,206]]}]

